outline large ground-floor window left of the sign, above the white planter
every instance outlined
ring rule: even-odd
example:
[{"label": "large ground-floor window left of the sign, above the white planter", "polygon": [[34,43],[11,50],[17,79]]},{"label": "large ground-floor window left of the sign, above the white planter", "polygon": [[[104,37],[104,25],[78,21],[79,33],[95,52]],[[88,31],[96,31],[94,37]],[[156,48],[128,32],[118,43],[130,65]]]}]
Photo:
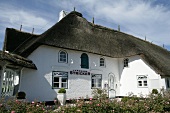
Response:
[{"label": "large ground-floor window left of the sign, above the white planter", "polygon": [[53,71],[52,72],[52,87],[67,88],[68,87],[68,72]]}]

